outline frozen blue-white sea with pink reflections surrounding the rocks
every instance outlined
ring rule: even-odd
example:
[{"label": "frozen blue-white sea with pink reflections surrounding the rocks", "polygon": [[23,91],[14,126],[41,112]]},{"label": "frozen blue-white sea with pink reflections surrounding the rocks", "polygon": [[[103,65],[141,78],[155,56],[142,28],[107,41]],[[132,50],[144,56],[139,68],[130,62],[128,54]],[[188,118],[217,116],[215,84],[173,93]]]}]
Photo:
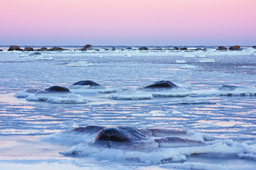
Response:
[{"label": "frozen blue-white sea with pink reflections surrounding the rocks", "polygon": [[[0,47],[1,170],[256,169],[254,48],[65,48],[36,55]],[[73,88],[82,80],[102,88]],[[142,90],[161,80],[178,88]],[[27,91],[50,86],[71,92]],[[164,137],[200,145],[183,140],[161,147],[88,145],[97,132],[74,129],[89,125],[174,129],[186,133]]]}]

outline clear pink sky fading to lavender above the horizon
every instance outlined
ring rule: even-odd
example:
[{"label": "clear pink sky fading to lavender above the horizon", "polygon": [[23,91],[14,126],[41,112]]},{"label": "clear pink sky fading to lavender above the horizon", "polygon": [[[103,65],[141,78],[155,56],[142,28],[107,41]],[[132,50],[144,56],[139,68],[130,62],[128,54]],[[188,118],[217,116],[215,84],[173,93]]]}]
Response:
[{"label": "clear pink sky fading to lavender above the horizon", "polygon": [[256,0],[1,0],[0,45],[256,45]]}]

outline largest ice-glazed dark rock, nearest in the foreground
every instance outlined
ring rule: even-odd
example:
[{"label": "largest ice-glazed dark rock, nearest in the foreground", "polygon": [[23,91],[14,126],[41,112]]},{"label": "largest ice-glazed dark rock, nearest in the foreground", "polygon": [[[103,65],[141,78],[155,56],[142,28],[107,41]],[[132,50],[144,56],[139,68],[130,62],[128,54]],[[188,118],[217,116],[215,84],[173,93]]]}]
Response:
[{"label": "largest ice-glazed dark rock, nearest in the foreground", "polygon": [[[85,128],[75,128],[69,131],[69,133],[93,134],[97,131],[98,133],[95,139],[87,144],[88,147],[149,149],[156,147],[193,147],[205,145],[203,135],[199,137],[198,140],[193,140],[186,136],[194,134],[188,134],[185,130],[169,128],[138,129],[132,126],[102,127],[92,125]],[[63,152],[63,154],[79,154],[79,151],[73,147],[73,149],[70,149],[68,152]]]}]

